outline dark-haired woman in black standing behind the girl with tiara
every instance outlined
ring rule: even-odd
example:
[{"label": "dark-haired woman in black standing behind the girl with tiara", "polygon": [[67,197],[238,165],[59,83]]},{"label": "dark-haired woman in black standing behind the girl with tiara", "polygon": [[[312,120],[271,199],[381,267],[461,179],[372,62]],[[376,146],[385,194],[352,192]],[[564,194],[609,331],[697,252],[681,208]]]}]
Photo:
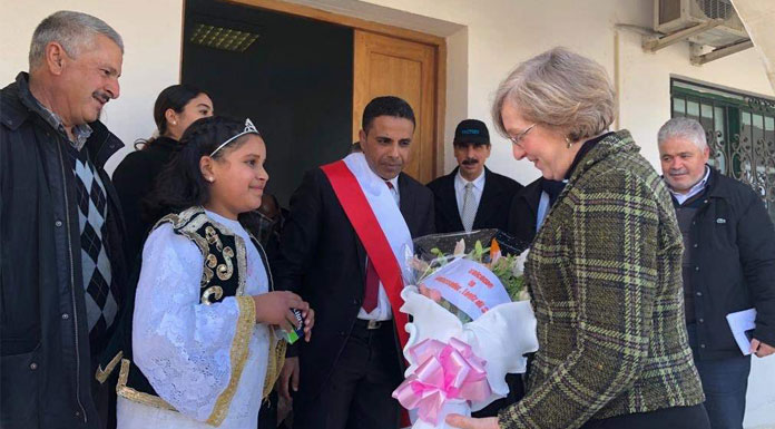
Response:
[{"label": "dark-haired woman in black standing behind the girl with tiara", "polygon": [[[143,143],[141,149],[127,155],[112,175],[127,225],[125,255],[129,264],[139,257],[148,230],[156,220],[147,218],[143,199],[150,193],[156,176],[180,148],[180,136],[195,120],[213,116],[213,100],[193,85],[173,85],[164,89],[154,105],[157,137]],[[135,146],[137,148],[137,144]]]}]

